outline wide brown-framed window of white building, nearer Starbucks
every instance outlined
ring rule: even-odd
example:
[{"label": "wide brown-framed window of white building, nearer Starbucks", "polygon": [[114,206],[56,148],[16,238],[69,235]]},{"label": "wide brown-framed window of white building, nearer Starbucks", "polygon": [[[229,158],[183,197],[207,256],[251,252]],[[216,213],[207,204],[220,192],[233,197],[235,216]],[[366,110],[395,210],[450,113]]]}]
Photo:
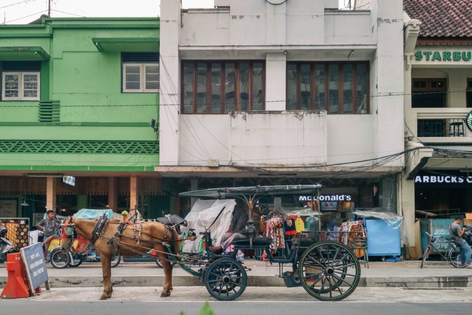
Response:
[{"label": "wide brown-framed window of white building, nearer Starbucks", "polygon": [[287,110],[369,112],[368,63],[287,63]]}]

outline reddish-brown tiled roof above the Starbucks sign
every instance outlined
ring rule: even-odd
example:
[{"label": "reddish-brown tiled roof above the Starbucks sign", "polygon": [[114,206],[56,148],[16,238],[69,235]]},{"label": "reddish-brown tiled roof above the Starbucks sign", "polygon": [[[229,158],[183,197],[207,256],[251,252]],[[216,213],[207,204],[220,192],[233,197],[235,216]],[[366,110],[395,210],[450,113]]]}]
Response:
[{"label": "reddish-brown tiled roof above the Starbucks sign", "polygon": [[472,0],[403,0],[403,8],[422,22],[419,37],[472,37]]}]

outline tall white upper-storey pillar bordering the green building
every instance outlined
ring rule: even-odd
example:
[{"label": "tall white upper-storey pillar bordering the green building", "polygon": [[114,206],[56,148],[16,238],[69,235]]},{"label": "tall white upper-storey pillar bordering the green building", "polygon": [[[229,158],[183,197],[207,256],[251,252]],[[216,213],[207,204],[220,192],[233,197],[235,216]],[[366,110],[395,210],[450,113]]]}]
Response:
[{"label": "tall white upper-storey pillar bordering the green building", "polygon": [[179,60],[178,36],[180,32],[180,8],[178,0],[161,1],[160,16],[160,91],[159,91],[159,165],[177,165],[179,160],[179,110],[178,90]]}]

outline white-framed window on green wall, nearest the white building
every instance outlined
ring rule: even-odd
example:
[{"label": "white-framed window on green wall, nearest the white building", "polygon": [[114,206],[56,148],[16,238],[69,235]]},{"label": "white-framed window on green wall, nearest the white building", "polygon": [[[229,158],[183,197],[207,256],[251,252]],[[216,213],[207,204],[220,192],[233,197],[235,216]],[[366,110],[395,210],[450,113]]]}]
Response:
[{"label": "white-framed window on green wall, nearest the white building", "polygon": [[123,93],[159,93],[159,54],[121,53]]}]

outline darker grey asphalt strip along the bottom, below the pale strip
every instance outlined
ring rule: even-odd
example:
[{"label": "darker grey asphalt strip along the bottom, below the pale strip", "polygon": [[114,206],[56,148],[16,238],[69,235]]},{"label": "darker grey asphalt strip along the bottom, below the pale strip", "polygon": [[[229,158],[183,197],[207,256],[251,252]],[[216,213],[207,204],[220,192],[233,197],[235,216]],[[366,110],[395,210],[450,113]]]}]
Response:
[{"label": "darker grey asphalt strip along the bottom, below the pale strip", "polygon": [[[47,315],[197,315],[204,302],[36,302],[1,301],[4,314],[47,314]],[[443,315],[470,314],[472,303],[379,303],[379,302],[210,302],[215,315],[274,315],[274,314],[349,314],[349,315]],[[7,311],[6,311],[7,310]],[[3,312],[2,312],[3,313]]]}]

